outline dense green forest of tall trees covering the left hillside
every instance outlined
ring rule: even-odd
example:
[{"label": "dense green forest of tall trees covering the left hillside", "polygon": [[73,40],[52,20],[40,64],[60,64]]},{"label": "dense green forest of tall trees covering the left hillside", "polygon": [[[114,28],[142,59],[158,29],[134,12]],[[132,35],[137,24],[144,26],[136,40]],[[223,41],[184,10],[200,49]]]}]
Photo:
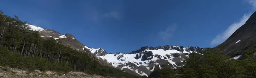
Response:
[{"label": "dense green forest of tall trees covering the left hillside", "polygon": [[56,72],[81,71],[103,76],[136,78],[121,70],[102,66],[92,55],[43,39],[17,16],[0,13],[0,66]]}]

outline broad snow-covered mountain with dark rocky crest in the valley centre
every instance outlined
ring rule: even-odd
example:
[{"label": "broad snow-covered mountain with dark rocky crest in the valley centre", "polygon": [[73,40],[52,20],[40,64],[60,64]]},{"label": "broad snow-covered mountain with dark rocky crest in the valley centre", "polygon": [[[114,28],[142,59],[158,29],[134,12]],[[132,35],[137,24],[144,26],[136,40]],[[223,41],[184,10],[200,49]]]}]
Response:
[{"label": "broad snow-covered mountain with dark rocky crest in the valley centre", "polygon": [[98,55],[98,57],[107,60],[110,65],[116,68],[122,70],[130,69],[139,75],[148,76],[155,69],[161,69],[167,66],[172,68],[183,66],[182,62],[184,58],[189,57],[190,53],[199,53],[202,49],[193,46],[144,46],[129,54],[119,52]]}]

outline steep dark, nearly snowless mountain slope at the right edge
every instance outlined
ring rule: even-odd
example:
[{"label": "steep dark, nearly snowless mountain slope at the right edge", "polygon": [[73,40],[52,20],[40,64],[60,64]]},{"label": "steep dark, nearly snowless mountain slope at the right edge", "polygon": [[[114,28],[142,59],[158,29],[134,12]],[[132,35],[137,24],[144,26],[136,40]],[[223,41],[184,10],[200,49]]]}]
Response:
[{"label": "steep dark, nearly snowless mountain slope at the right edge", "polygon": [[[237,41],[239,42],[236,43]],[[227,56],[234,57],[241,55],[243,51],[252,47],[256,47],[256,12],[226,41],[215,48],[221,49]]]}]

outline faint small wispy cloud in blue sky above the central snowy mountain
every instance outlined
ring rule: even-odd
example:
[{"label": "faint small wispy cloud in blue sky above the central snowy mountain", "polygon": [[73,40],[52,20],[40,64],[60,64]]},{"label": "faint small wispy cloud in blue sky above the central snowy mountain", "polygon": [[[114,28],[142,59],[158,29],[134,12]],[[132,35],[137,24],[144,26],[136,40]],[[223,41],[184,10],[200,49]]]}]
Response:
[{"label": "faint small wispy cloud in blue sky above the central snowy mountain", "polygon": [[172,38],[172,36],[175,33],[177,25],[172,24],[171,26],[168,26],[164,31],[160,31],[158,35],[163,39],[163,40],[168,40],[169,38]]}]

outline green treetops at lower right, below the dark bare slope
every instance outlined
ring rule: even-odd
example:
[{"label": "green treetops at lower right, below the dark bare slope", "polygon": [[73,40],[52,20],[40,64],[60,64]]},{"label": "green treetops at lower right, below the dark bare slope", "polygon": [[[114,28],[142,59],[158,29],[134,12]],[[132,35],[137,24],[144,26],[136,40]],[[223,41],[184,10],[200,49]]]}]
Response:
[{"label": "green treetops at lower right, below the dark bare slope", "polygon": [[208,49],[204,55],[190,55],[183,67],[155,70],[148,78],[256,78],[255,52],[256,48],[248,49],[236,60]]}]

